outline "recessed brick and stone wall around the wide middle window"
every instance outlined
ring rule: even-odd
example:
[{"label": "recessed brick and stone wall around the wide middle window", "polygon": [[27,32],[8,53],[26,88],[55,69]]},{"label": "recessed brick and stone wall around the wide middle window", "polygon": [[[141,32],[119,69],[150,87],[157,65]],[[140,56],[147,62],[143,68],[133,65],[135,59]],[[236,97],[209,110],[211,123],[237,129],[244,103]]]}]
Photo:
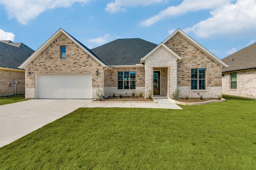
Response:
[{"label": "recessed brick and stone wall around the wide middle window", "polygon": [[[122,71],[135,71],[136,72],[136,89],[118,89],[118,72]],[[113,68],[113,70],[104,70],[104,96],[116,96],[122,94],[123,96],[132,96],[132,92],[135,96],[139,96],[139,93],[145,92],[145,70],[144,68]]]}]

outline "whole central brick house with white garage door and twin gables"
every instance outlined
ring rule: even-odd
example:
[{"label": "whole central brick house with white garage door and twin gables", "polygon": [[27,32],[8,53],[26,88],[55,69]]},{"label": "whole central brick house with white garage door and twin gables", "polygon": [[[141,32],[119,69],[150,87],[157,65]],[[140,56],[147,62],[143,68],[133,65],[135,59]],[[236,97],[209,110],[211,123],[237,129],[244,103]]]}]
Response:
[{"label": "whole central brick house with white garage door and twin gables", "polygon": [[227,65],[177,29],[159,45],[142,39],[117,39],[92,50],[58,29],[20,68],[26,69],[26,98],[136,96],[217,98]]}]

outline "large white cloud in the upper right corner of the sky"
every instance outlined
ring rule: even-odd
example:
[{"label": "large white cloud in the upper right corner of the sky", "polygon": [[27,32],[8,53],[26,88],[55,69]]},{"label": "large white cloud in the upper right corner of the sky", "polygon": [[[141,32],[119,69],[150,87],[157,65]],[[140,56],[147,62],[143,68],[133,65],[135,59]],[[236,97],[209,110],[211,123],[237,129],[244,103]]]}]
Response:
[{"label": "large white cloud in the upper right corner of the sky", "polygon": [[184,32],[194,33],[201,38],[249,37],[256,30],[256,0],[237,0],[235,4],[226,4],[212,10],[212,17],[200,21]]}]

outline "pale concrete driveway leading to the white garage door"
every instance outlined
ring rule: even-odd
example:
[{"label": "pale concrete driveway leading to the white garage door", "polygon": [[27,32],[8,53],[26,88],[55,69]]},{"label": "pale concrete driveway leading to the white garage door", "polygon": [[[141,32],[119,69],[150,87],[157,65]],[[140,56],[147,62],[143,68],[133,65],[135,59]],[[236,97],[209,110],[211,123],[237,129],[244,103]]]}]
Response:
[{"label": "pale concrete driveway leading to the white garage door", "polygon": [[0,147],[90,103],[91,100],[26,100],[0,106]]}]

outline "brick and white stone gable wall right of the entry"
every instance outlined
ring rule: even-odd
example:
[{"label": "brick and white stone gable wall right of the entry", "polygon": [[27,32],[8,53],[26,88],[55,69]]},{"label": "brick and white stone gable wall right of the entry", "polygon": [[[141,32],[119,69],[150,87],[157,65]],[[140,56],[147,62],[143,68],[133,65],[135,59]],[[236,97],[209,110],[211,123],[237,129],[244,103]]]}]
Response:
[{"label": "brick and white stone gable wall right of the entry", "polygon": [[[200,95],[203,95],[204,98],[217,98],[218,95],[222,95],[222,70],[218,63],[179,33],[165,45],[182,58],[178,63],[180,98],[184,98],[186,95],[190,98],[197,98]],[[191,69],[193,68],[206,68],[206,90],[191,90]]]}]

